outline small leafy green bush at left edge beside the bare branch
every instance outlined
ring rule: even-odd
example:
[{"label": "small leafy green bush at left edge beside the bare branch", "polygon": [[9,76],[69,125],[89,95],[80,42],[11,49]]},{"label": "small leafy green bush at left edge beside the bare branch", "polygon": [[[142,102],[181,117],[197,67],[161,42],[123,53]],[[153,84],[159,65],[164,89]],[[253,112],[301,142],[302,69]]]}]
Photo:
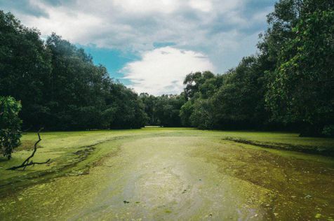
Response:
[{"label": "small leafy green bush at left edge beside the bare branch", "polygon": [[11,159],[13,149],[20,145],[22,121],[18,117],[21,104],[13,97],[0,97],[0,148]]}]

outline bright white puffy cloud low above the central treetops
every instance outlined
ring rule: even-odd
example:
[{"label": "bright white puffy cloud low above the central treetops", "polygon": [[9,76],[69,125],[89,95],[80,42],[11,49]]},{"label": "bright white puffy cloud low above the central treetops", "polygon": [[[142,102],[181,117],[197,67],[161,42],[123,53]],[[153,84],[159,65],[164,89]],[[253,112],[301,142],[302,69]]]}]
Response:
[{"label": "bright white puffy cloud low above the central treetops", "polygon": [[205,55],[168,46],[142,53],[140,61],[129,63],[123,71],[136,92],[161,95],[182,92],[188,73],[213,69]]}]

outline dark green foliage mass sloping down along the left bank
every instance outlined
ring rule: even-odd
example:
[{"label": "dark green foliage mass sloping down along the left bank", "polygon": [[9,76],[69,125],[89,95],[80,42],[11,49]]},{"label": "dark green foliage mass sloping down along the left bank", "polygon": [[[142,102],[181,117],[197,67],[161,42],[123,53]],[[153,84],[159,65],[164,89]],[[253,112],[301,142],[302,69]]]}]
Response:
[{"label": "dark green foliage mass sloping down along the left bank", "polygon": [[[138,128],[147,116],[138,95],[114,83],[81,48],[0,10],[0,95],[22,102],[20,117],[31,129]],[[20,89],[20,90],[18,90]]]}]

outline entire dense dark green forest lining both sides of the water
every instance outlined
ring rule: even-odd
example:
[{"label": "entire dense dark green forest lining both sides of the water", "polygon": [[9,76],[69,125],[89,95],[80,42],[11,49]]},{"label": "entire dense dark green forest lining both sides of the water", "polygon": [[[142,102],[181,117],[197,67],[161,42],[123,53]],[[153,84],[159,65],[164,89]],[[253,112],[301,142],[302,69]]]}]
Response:
[{"label": "entire dense dark green forest lining both sides of the water", "polygon": [[189,73],[184,92],[154,97],[116,82],[61,36],[44,40],[0,10],[0,96],[20,101],[23,129],[159,125],[334,136],[334,2],[281,0],[267,22],[257,54],[224,74]]}]

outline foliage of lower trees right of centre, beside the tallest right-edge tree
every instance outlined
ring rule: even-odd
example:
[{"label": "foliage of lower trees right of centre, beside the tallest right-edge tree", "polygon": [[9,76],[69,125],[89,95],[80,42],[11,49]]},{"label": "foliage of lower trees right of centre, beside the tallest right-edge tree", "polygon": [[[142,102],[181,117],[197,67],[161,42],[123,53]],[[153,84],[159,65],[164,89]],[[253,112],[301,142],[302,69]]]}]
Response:
[{"label": "foliage of lower trees right of centre, beside the tallest right-edge tree", "polygon": [[[196,73],[196,82],[187,81],[192,97],[180,110],[182,122],[201,129],[240,129],[264,124],[264,65],[260,61],[261,57],[246,57],[236,69],[222,76],[208,78],[208,72]],[[193,76],[191,73],[186,79]]]}]

